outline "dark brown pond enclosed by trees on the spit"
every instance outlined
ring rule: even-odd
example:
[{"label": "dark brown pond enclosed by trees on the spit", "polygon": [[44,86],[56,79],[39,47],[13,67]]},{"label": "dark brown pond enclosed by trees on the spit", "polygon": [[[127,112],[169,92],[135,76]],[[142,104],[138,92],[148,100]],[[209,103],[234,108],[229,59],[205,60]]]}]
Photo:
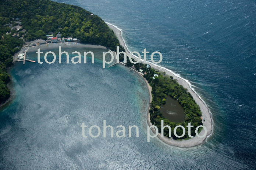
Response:
[{"label": "dark brown pond enclosed by trees on the spit", "polygon": [[171,122],[178,123],[185,121],[186,115],[184,109],[181,104],[179,104],[178,100],[173,99],[170,96],[167,96],[166,104],[161,107],[160,111],[163,114],[163,117]]}]

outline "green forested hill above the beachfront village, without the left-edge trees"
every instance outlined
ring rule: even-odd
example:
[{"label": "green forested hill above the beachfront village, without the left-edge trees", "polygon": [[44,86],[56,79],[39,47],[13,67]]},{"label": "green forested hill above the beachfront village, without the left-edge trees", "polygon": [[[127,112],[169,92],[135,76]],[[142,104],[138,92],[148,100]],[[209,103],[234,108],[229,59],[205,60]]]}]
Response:
[{"label": "green forested hill above the beachfront village, without the left-edge trees", "polygon": [[112,30],[97,15],[81,7],[50,0],[1,0],[1,18],[8,23],[19,18],[27,33],[27,41],[46,39],[46,34],[60,32],[64,37],[103,45],[111,50],[120,46]]}]

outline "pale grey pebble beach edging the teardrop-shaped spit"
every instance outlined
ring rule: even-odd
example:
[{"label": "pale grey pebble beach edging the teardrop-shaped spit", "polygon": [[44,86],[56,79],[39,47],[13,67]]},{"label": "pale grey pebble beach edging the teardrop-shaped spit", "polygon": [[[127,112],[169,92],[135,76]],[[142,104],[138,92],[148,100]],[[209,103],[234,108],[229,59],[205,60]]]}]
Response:
[{"label": "pale grey pebble beach edging the teardrop-shaped spit", "polygon": [[[109,26],[109,28],[111,30],[113,30],[115,36],[117,36],[118,40],[120,41],[120,45],[122,45],[125,48],[125,51],[127,53],[130,53],[127,45],[125,44],[124,38],[122,37],[122,30],[119,29],[117,26],[111,24],[111,23],[108,23],[108,22],[105,22],[105,23]],[[135,60],[138,60],[138,58],[136,56],[134,56],[134,55],[132,55],[132,56]],[[164,67],[161,67],[157,64],[153,64],[151,62],[145,62],[143,60],[141,60],[141,62],[149,64],[153,69],[156,69],[156,70],[159,70],[159,71],[162,71],[162,72],[165,71],[166,75],[173,76],[173,78],[177,80],[179,85],[182,85],[184,88],[188,89],[189,93],[193,96],[193,99],[196,101],[196,103],[200,107],[200,110],[202,111],[202,117],[205,119],[205,121],[202,121],[202,123],[203,123],[203,126],[205,126],[206,129],[207,129],[207,133],[206,133],[206,136],[203,137],[203,138],[195,136],[193,138],[189,138],[188,140],[173,140],[173,139],[165,137],[165,136],[161,137],[160,133],[157,135],[157,137],[166,144],[169,144],[169,145],[172,145],[172,146],[175,146],[175,147],[181,147],[181,148],[195,147],[195,146],[200,145],[203,142],[205,142],[207,140],[207,138],[210,137],[212,132],[213,132],[212,116],[211,116],[210,110],[207,107],[205,101],[203,101],[203,99],[198,95],[198,93],[196,93],[196,91],[191,87],[190,82],[188,80],[178,76],[173,71],[171,71],[169,69],[166,69]],[[141,74],[139,74],[139,75],[141,75]],[[143,75],[141,75],[141,76],[143,77]],[[150,103],[151,103],[151,101],[152,101],[152,94],[151,94],[152,88],[144,77],[143,77],[143,79],[145,80],[145,82],[147,84],[147,89],[149,90],[149,93],[150,93]],[[149,109],[147,111],[147,124],[149,126],[152,126],[152,123],[150,121]],[[155,129],[151,129],[151,130],[152,130],[153,133],[156,133]],[[204,129],[199,133],[199,135],[202,136],[203,133],[205,133]]]}]

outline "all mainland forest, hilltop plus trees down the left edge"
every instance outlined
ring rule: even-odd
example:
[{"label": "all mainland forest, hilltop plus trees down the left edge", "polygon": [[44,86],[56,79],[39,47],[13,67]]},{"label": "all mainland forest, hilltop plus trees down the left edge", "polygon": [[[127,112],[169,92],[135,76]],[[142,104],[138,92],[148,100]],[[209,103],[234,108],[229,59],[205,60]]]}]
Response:
[{"label": "all mainland forest, hilltop plus trees down the left edge", "polygon": [[[50,0],[0,2],[0,103],[10,97],[7,67],[12,65],[12,56],[20,50],[24,41],[46,40],[46,34],[53,32],[54,36],[61,33],[64,37],[78,38],[85,44],[103,45],[113,51],[120,46],[114,32],[102,19],[81,7]],[[26,31],[11,30],[17,25]],[[14,38],[14,33],[19,36]],[[120,51],[124,51],[123,47],[120,48]]]}]

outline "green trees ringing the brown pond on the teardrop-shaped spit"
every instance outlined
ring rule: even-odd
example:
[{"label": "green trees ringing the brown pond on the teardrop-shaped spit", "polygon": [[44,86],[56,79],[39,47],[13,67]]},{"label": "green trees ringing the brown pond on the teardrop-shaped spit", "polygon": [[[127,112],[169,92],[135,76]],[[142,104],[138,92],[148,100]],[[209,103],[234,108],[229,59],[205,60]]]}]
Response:
[{"label": "green trees ringing the brown pond on the teardrop-shaped spit", "polygon": [[[168,125],[171,127],[172,131],[175,126],[182,125],[186,129],[185,136],[182,138],[177,138],[171,132],[172,137],[174,139],[185,139],[189,138],[188,136],[188,123],[190,122],[191,127],[191,135],[196,136],[195,129],[196,127],[202,125],[202,112],[200,111],[200,107],[195,102],[191,94],[185,89],[183,86],[179,85],[173,77],[167,77],[165,73],[160,73],[157,70],[152,68],[147,68],[146,64],[137,63],[133,64],[129,60],[127,60],[127,66],[132,67],[135,66],[135,69],[138,71],[142,69],[144,73],[143,77],[149,82],[152,87],[152,102],[150,103],[150,121],[153,125],[157,126],[158,129],[161,129],[161,120],[164,121],[164,126]],[[154,77],[154,74],[157,74],[158,77]],[[154,77],[154,78],[153,78]],[[186,119],[181,123],[174,123],[164,118],[160,112],[160,108],[163,104],[166,103],[166,97],[171,96],[174,99],[177,99],[179,104],[184,108]],[[199,129],[200,131],[200,129]],[[177,135],[182,135],[182,130],[180,128],[177,129]],[[168,128],[164,129],[164,136],[168,136],[169,130]]]}]

